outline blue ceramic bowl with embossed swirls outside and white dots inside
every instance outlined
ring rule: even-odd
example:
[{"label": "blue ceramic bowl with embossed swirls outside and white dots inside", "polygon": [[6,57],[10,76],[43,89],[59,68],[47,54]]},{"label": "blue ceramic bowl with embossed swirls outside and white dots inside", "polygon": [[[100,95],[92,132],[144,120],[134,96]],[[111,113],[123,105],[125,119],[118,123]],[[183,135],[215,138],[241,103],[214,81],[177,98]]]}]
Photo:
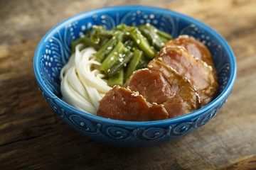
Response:
[{"label": "blue ceramic bowl with embossed swirls outside and white dots inside", "polygon": [[[70,57],[70,43],[93,25],[112,28],[120,23],[151,23],[176,38],[192,35],[210,50],[218,70],[220,93],[207,106],[179,118],[152,122],[111,120],[90,115],[61,100],[60,69]],[[146,147],[178,140],[201,128],[223,106],[236,77],[235,56],[228,43],[200,21],[163,8],[115,6],[95,9],[68,18],[51,29],[38,44],[33,60],[36,81],[53,111],[70,126],[94,140],[124,147]]]}]

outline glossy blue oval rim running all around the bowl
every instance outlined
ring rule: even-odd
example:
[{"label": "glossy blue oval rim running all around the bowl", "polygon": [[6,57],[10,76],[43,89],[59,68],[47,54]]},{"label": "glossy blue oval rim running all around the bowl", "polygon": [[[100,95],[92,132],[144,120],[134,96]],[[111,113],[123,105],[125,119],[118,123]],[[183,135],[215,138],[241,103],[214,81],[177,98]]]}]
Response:
[{"label": "glossy blue oval rim running all around the bowl", "polygon": [[[50,89],[48,89],[48,87],[46,86],[46,84],[43,81],[43,78],[41,77],[40,51],[43,48],[43,44],[46,42],[46,40],[48,40],[48,37],[55,32],[55,30],[59,30],[60,28],[63,27],[63,25],[66,26],[68,23],[72,23],[73,21],[79,20],[80,18],[92,16],[92,14],[95,14],[98,12],[117,11],[117,8],[119,11],[122,11],[122,9],[127,10],[127,8],[131,8],[134,10],[134,8],[136,8],[138,11],[139,10],[142,10],[142,11],[143,10],[152,10],[152,11],[157,11],[160,13],[169,13],[171,15],[178,16],[179,18],[185,18],[186,20],[196,23],[198,26],[208,29],[210,33],[213,33],[215,35],[215,38],[218,38],[220,40],[220,42],[223,42],[223,47],[225,47],[225,49],[229,53],[228,57],[230,58],[231,76],[230,76],[230,80],[228,81],[228,83],[225,86],[225,89],[223,89],[223,92],[221,94],[219,94],[213,101],[208,103],[208,105],[204,106],[203,108],[198,109],[197,111],[188,113],[186,115],[182,115],[177,118],[171,118],[171,119],[166,119],[166,120],[155,120],[155,121],[142,121],[142,122],[141,121],[125,121],[125,120],[113,120],[110,118],[102,118],[98,115],[92,115],[90,113],[86,113],[85,111],[80,111],[78,108],[70,106],[68,103],[65,103],[65,101],[63,101],[61,98],[58,98],[58,96],[53,94],[53,92],[50,91]],[[44,91],[47,94],[47,96],[51,96],[52,98],[54,98],[55,102],[58,103],[63,108],[68,108],[73,113],[85,116],[85,117],[93,119],[97,122],[100,121],[100,122],[105,122],[105,123],[126,124],[126,125],[153,125],[153,124],[159,125],[162,123],[171,124],[174,122],[180,122],[181,120],[188,120],[188,119],[195,118],[198,115],[203,114],[205,111],[210,110],[210,108],[213,108],[219,102],[224,101],[225,98],[227,98],[228,95],[230,94],[230,91],[232,91],[233,85],[235,84],[235,79],[237,76],[237,65],[236,65],[235,55],[233,53],[233,50],[231,50],[230,46],[228,45],[228,42],[226,42],[226,40],[219,33],[217,33],[215,30],[213,30],[213,28],[210,28],[205,23],[198,21],[197,19],[195,19],[191,16],[186,16],[182,13],[178,13],[176,11],[172,11],[167,8],[159,8],[159,7],[153,7],[153,6],[108,6],[108,7],[96,8],[96,9],[92,9],[90,11],[78,13],[75,16],[71,16],[70,18],[65,19],[64,21],[58,23],[56,26],[54,26],[53,28],[48,30],[46,35],[44,35],[43,38],[41,39],[41,41],[38,43],[38,45],[36,47],[36,51],[34,53],[34,57],[33,57],[33,70],[34,70],[34,74],[36,76],[38,86],[41,88],[41,91]]]}]

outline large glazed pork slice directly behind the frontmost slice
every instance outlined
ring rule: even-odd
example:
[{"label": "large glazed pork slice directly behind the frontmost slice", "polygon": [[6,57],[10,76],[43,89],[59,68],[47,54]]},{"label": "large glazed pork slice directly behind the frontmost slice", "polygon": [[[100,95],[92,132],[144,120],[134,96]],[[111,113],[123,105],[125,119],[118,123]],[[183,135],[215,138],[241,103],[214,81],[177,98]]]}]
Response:
[{"label": "large glazed pork slice directly behind the frontmost slice", "polygon": [[201,107],[198,94],[188,80],[162,62],[149,62],[127,80],[127,88],[138,91],[151,103],[161,104],[175,118]]}]

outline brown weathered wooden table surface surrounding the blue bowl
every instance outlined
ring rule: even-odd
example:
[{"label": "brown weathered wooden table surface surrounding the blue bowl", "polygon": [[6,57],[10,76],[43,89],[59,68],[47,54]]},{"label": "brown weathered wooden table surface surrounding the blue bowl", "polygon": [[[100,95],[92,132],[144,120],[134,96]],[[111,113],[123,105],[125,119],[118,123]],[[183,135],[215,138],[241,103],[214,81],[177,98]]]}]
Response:
[{"label": "brown weathered wooden table surface surrounding the blue bowl", "polygon": [[[103,6],[169,8],[208,24],[235,53],[235,88],[218,115],[176,142],[122,148],[65,124],[38,91],[33,53],[65,18]],[[255,0],[1,0],[0,169],[256,169]]]}]

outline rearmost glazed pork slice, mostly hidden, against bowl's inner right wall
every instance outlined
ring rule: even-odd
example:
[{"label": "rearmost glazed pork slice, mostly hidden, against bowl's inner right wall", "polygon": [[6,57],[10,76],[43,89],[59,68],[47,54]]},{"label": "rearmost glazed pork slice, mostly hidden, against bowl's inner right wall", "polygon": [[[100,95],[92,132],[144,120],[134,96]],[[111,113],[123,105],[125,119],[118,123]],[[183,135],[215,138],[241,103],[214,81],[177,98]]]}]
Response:
[{"label": "rearmost glazed pork slice, mostly hidden, against bowl's inner right wall", "polygon": [[164,45],[165,47],[184,47],[190,55],[196,57],[203,62],[206,62],[213,69],[213,74],[215,79],[217,79],[217,72],[215,66],[213,64],[212,56],[210,55],[210,51],[202,42],[196,40],[196,38],[189,37],[188,35],[180,35],[178,38],[169,40]]}]

